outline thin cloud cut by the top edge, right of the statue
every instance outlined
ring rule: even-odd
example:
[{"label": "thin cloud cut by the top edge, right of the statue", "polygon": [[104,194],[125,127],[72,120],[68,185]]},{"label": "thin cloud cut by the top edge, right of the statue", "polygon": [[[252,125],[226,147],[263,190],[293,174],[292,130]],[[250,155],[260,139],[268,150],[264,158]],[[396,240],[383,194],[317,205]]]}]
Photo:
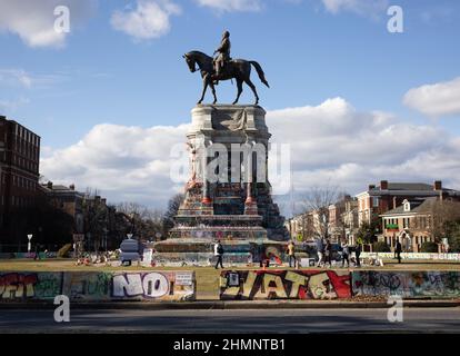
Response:
[{"label": "thin cloud cut by the top edge, right of the statue", "polygon": [[376,17],[386,14],[388,0],[321,0],[326,10],[331,13],[353,12],[360,16]]}]

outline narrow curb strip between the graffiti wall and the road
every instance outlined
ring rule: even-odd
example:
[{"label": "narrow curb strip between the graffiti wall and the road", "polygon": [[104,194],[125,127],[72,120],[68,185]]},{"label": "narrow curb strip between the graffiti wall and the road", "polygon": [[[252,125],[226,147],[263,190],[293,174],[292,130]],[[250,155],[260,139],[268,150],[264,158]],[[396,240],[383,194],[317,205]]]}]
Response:
[{"label": "narrow curb strip between the graffiti wall and the road", "polygon": [[[460,300],[404,300],[407,308],[460,307]],[[71,303],[71,309],[143,309],[143,310],[236,310],[236,309],[382,309],[386,301],[330,301],[330,300],[263,300],[263,301],[156,301],[156,303]],[[33,310],[56,309],[52,303],[0,303],[0,309]]]}]

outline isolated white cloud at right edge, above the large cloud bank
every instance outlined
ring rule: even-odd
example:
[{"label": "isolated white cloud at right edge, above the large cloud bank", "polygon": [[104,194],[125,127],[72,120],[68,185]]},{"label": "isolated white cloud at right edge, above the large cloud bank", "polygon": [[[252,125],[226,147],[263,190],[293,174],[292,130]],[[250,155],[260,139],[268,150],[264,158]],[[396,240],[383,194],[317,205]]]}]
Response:
[{"label": "isolated white cloud at right edge, above the large cloud bank", "polygon": [[404,95],[403,102],[431,117],[459,115],[460,77],[451,81],[412,88]]}]

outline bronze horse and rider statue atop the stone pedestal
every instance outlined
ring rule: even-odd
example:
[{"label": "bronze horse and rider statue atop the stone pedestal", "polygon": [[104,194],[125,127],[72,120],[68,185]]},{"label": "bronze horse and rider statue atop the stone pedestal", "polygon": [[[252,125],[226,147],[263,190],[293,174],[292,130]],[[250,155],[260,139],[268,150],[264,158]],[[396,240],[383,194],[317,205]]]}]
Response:
[{"label": "bronze horse and rider statue atop the stone pedestal", "polygon": [[244,59],[231,59],[230,49],[230,32],[224,31],[222,34],[222,41],[219,48],[214,51],[214,55],[218,53],[216,59],[200,51],[191,51],[182,56],[186,59],[191,72],[196,72],[198,70],[198,66],[203,79],[203,91],[198,103],[203,101],[208,87],[211,87],[212,95],[214,97],[213,103],[216,103],[216,86],[219,85],[219,81],[234,79],[237,81],[238,96],[233,101],[233,105],[236,105],[240,99],[243,82],[252,89],[252,92],[256,96],[254,103],[258,105],[259,96],[257,93],[256,86],[251,81],[251,65],[256,68],[260,80],[270,88],[262,67],[260,67],[258,62]]}]

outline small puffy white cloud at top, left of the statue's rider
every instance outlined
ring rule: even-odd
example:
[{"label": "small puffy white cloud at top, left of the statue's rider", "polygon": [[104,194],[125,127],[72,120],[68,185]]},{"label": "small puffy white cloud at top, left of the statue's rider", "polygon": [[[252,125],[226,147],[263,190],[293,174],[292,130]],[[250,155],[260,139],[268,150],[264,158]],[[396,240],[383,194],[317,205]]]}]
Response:
[{"label": "small puffy white cloud at top, left of the statue's rider", "polygon": [[111,23],[136,40],[149,40],[167,34],[170,17],[180,13],[181,8],[170,0],[138,0],[134,10],[114,11]]}]

